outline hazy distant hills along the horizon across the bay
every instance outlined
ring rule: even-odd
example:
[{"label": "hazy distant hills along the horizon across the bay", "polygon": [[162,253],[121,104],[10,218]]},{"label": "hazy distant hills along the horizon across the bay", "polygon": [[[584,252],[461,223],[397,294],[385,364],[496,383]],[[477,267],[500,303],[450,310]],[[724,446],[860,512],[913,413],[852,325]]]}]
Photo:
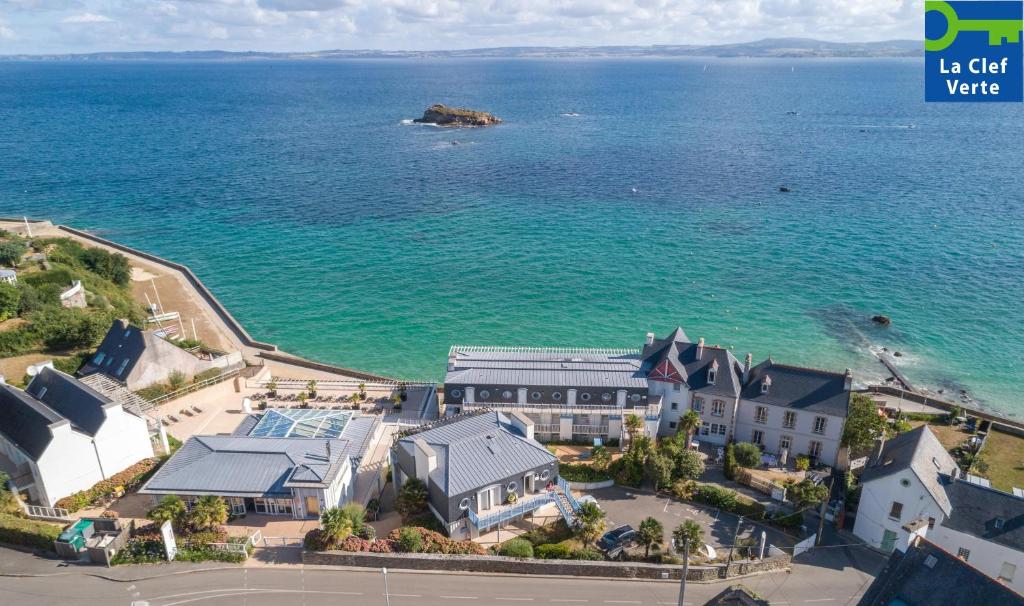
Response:
[{"label": "hazy distant hills along the horizon across the bay", "polygon": [[653,46],[509,46],[465,50],[317,50],[311,52],[234,52],[189,50],[184,52],[94,52],[84,54],[0,55],[4,60],[74,61],[223,61],[265,59],[341,58],[470,58],[470,57],[894,57],[921,56],[919,40],[882,42],[825,42],[811,38],[766,38],[756,42],[717,45]]}]

